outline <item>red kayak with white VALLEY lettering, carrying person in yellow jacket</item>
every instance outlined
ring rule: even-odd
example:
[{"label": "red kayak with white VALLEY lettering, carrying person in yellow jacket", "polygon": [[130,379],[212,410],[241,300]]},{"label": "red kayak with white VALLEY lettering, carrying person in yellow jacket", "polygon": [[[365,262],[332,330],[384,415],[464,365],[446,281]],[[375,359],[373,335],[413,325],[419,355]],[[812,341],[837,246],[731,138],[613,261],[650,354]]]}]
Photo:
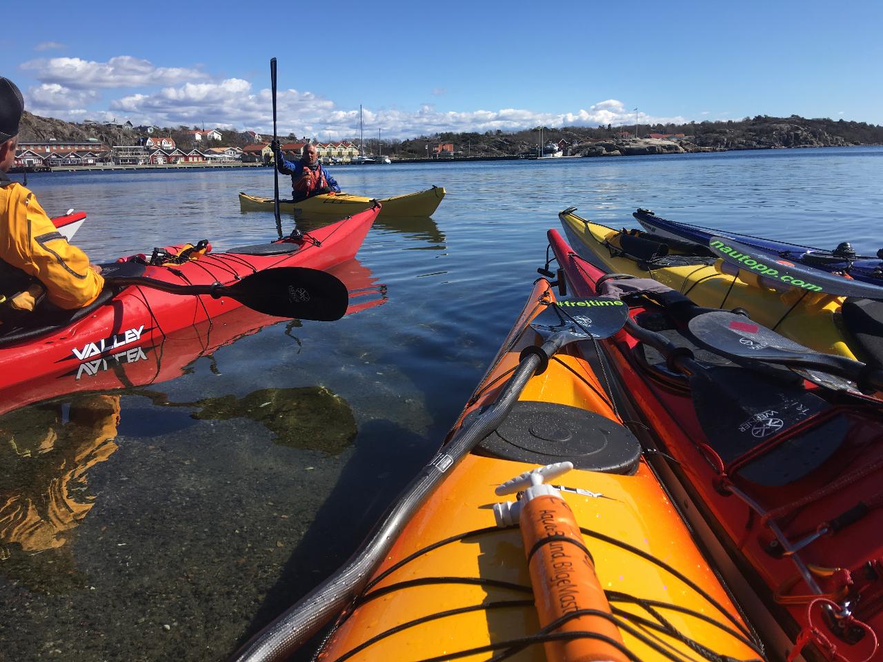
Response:
[{"label": "red kayak with white VALLEY lettering, carrying person in yellow jacket", "polygon": [[[181,264],[147,265],[141,275],[188,286],[235,285],[274,267],[327,270],[355,256],[378,213],[378,207],[366,209],[313,229],[297,240],[206,252]],[[110,265],[106,271],[115,267]],[[27,328],[0,336],[0,389],[52,375],[73,374],[75,380],[82,379],[111,365],[137,361],[142,348],[240,306],[230,297],[181,296],[143,286],[126,287],[117,293],[105,291],[95,304],[72,312],[69,319],[54,327]]]}]

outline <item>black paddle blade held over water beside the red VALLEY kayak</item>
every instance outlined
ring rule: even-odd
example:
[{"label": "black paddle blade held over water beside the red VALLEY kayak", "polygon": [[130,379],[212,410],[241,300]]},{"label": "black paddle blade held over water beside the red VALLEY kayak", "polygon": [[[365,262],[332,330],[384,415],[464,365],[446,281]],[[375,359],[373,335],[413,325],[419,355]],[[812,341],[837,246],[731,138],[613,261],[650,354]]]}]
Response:
[{"label": "black paddle blade held over water beside the red VALLEY kayak", "polygon": [[350,296],[343,282],[317,269],[276,267],[245,276],[215,289],[216,297],[230,297],[265,315],[298,320],[340,320]]}]

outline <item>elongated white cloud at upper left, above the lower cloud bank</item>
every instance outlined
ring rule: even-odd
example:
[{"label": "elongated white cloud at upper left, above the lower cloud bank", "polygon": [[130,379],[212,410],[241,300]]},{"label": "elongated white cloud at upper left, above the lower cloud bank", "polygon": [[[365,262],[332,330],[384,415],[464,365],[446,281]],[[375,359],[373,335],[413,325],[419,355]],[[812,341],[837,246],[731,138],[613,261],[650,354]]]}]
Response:
[{"label": "elongated white cloud at upper left, above the lower cloud bank", "polygon": [[149,60],[132,56],[111,57],[107,62],[92,62],[79,57],[51,57],[48,60],[30,60],[21,68],[34,71],[34,77],[42,83],[57,83],[78,89],[177,85],[192,79],[208,78],[208,74],[198,69],[157,67]]}]

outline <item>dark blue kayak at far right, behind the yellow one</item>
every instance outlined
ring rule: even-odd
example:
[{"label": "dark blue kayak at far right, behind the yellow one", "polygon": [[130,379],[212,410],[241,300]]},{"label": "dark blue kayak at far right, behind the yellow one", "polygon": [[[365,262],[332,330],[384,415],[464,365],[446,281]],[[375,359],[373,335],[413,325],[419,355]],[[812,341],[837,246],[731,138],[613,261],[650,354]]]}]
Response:
[{"label": "dark blue kayak at far right, behind the yellow one", "polygon": [[752,237],[738,232],[726,232],[720,229],[703,228],[700,225],[667,221],[653,214],[649,209],[638,209],[631,215],[649,234],[657,237],[686,240],[703,246],[708,245],[708,240],[711,237],[727,237],[777,258],[784,258],[807,267],[816,267],[830,273],[849,274],[857,281],[883,285],[883,249],[880,249],[877,256],[872,258],[857,255],[847,242],[841,243],[833,251],[826,251],[811,246]]}]

